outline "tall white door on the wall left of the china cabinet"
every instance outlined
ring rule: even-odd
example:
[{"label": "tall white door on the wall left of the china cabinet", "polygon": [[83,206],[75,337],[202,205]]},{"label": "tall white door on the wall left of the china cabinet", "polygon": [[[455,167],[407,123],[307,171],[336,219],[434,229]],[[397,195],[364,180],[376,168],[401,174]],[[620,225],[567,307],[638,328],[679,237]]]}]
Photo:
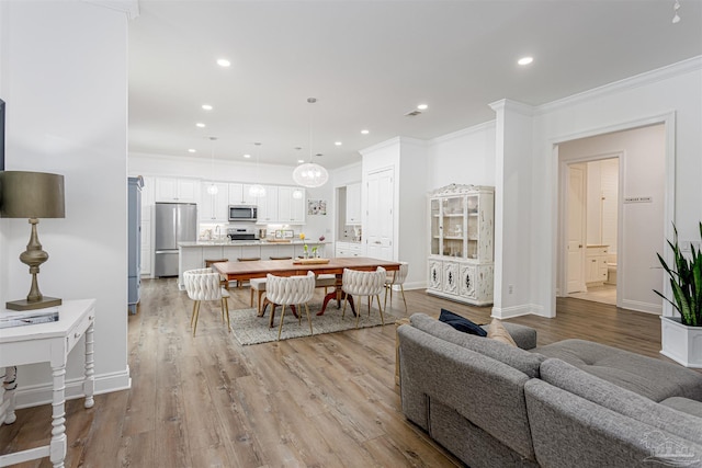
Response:
[{"label": "tall white door on the wall left of the china cabinet", "polygon": [[373,259],[393,260],[395,204],[394,169],[373,172],[367,178],[367,224],[363,226],[366,254]]}]

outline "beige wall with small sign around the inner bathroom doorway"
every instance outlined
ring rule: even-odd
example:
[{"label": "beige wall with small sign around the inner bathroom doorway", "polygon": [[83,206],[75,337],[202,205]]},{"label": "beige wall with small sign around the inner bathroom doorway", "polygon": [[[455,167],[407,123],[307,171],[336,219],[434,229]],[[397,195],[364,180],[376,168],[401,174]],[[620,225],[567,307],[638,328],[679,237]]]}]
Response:
[{"label": "beige wall with small sign around the inner bathroom doorway", "polygon": [[620,152],[622,198],[652,197],[652,203],[621,202],[622,246],[618,258],[616,301],[626,309],[655,313],[661,311],[661,303],[653,289],[660,289],[663,285],[656,252],[663,253],[664,244],[665,137],[665,127],[655,125],[558,146],[563,161]]}]

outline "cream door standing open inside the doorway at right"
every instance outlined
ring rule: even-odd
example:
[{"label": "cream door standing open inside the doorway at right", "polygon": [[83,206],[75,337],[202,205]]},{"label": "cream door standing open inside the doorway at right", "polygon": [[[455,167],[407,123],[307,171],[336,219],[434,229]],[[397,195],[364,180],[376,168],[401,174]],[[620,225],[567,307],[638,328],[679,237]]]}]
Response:
[{"label": "cream door standing open inside the doorway at right", "polygon": [[585,168],[582,164],[568,165],[566,261],[568,271],[567,293],[584,290],[584,232],[585,232]]}]

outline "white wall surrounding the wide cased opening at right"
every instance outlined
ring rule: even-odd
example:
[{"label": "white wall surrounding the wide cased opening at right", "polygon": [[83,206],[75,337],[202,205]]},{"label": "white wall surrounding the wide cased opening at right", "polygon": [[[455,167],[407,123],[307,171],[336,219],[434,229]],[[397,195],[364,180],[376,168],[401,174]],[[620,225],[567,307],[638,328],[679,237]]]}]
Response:
[{"label": "white wall surrounding the wide cased opening at right", "polygon": [[[681,240],[699,238],[702,218],[702,57],[536,109],[534,117],[531,297],[544,315],[555,313],[557,153],[554,145],[605,132],[667,122],[665,218]],[[669,185],[675,192],[668,192]],[[670,237],[671,227],[647,226]],[[509,236],[520,236],[511,232]],[[499,246],[498,246],[499,248]],[[659,246],[657,251],[663,251]],[[546,265],[546,270],[542,270]],[[663,285],[659,285],[663,286]],[[670,313],[664,308],[664,313]]]}]

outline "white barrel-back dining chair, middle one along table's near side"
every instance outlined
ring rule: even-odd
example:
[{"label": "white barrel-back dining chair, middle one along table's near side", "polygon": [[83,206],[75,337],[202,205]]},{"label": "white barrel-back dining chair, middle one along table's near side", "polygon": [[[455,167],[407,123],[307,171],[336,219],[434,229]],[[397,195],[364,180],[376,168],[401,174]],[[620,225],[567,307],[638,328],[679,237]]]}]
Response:
[{"label": "white barrel-back dining chair, middle one along table's near side", "polygon": [[[307,321],[309,322],[309,334],[314,334],[312,329],[312,318],[309,317],[309,307],[307,303],[315,295],[315,274],[307,272],[306,276],[274,276],[268,274],[265,276],[265,299],[273,305],[283,306],[281,312],[281,322],[278,327],[278,340],[281,339],[283,331],[283,321],[285,319],[285,306],[297,306],[297,318],[302,323],[302,309],[299,306],[305,305],[307,312]],[[271,315],[273,311],[271,310]],[[272,316],[271,316],[272,317]]]}]

